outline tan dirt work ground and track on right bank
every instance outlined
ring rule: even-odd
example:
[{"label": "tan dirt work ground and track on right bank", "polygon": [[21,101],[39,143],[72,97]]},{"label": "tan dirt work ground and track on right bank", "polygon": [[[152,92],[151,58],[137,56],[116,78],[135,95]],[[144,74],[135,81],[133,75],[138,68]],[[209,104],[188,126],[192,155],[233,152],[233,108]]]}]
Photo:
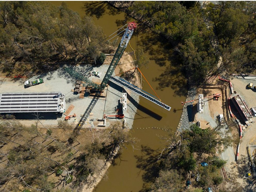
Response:
[{"label": "tan dirt work ground and track on right bank", "polygon": [[[247,81],[241,81],[240,79],[235,79],[238,81],[235,81],[233,84],[235,91],[237,93],[240,93],[240,95],[244,95],[245,100],[247,101],[249,107],[256,106],[254,105],[254,102],[256,101],[256,93],[252,90],[247,90],[246,85],[249,83]],[[240,82],[241,81],[241,82]],[[233,83],[233,82],[232,82]],[[204,93],[205,96],[209,96],[215,93],[219,93],[219,90],[215,89],[204,89],[204,90],[198,90],[198,93]],[[246,92],[245,92],[246,91]],[[253,102],[248,102],[253,100]],[[218,124],[217,115],[223,114],[222,109],[222,101],[219,99],[219,101],[213,101],[213,99],[205,99],[205,106],[204,106],[204,113],[195,114],[194,123],[197,121],[201,121],[201,127],[202,129],[206,129],[207,127],[216,127]],[[197,102],[195,102],[197,103]],[[194,104],[195,104],[194,103]],[[256,104],[256,102],[255,102]],[[196,107],[196,106],[195,106]],[[209,122],[209,123],[207,123]],[[234,125],[237,127],[237,125],[234,123]],[[227,126],[223,127],[223,132],[226,131]],[[221,158],[227,161],[227,164],[225,166],[225,170],[228,176],[228,182],[227,185],[233,185],[233,182],[239,182],[243,188],[244,191],[253,191],[253,182],[251,180],[245,180],[244,176],[249,171],[248,166],[248,155],[246,147],[249,143],[253,143],[253,140],[255,139],[256,133],[256,123],[253,123],[249,128],[247,128],[244,132],[244,137],[242,138],[242,143],[239,150],[239,160],[236,161],[236,147],[237,146],[229,146],[223,153],[220,154]],[[229,132],[228,134],[231,134]],[[233,137],[239,138],[238,131],[234,133]],[[228,187],[228,186],[226,186]]]}]

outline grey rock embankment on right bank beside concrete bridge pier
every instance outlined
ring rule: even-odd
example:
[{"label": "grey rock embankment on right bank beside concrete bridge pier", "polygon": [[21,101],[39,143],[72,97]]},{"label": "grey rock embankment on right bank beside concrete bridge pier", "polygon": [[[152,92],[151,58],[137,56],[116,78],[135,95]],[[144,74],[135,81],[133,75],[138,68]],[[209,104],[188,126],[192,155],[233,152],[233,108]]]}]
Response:
[{"label": "grey rock embankment on right bank beside concrete bridge pier", "polygon": [[[196,89],[191,88],[188,91],[188,96],[186,101],[194,100],[196,97]],[[189,127],[193,124],[191,121],[191,117],[193,115],[193,101],[189,103],[185,103],[183,106],[183,112],[181,114],[180,122],[177,127],[177,131],[181,132],[183,130],[189,129]]]}]

